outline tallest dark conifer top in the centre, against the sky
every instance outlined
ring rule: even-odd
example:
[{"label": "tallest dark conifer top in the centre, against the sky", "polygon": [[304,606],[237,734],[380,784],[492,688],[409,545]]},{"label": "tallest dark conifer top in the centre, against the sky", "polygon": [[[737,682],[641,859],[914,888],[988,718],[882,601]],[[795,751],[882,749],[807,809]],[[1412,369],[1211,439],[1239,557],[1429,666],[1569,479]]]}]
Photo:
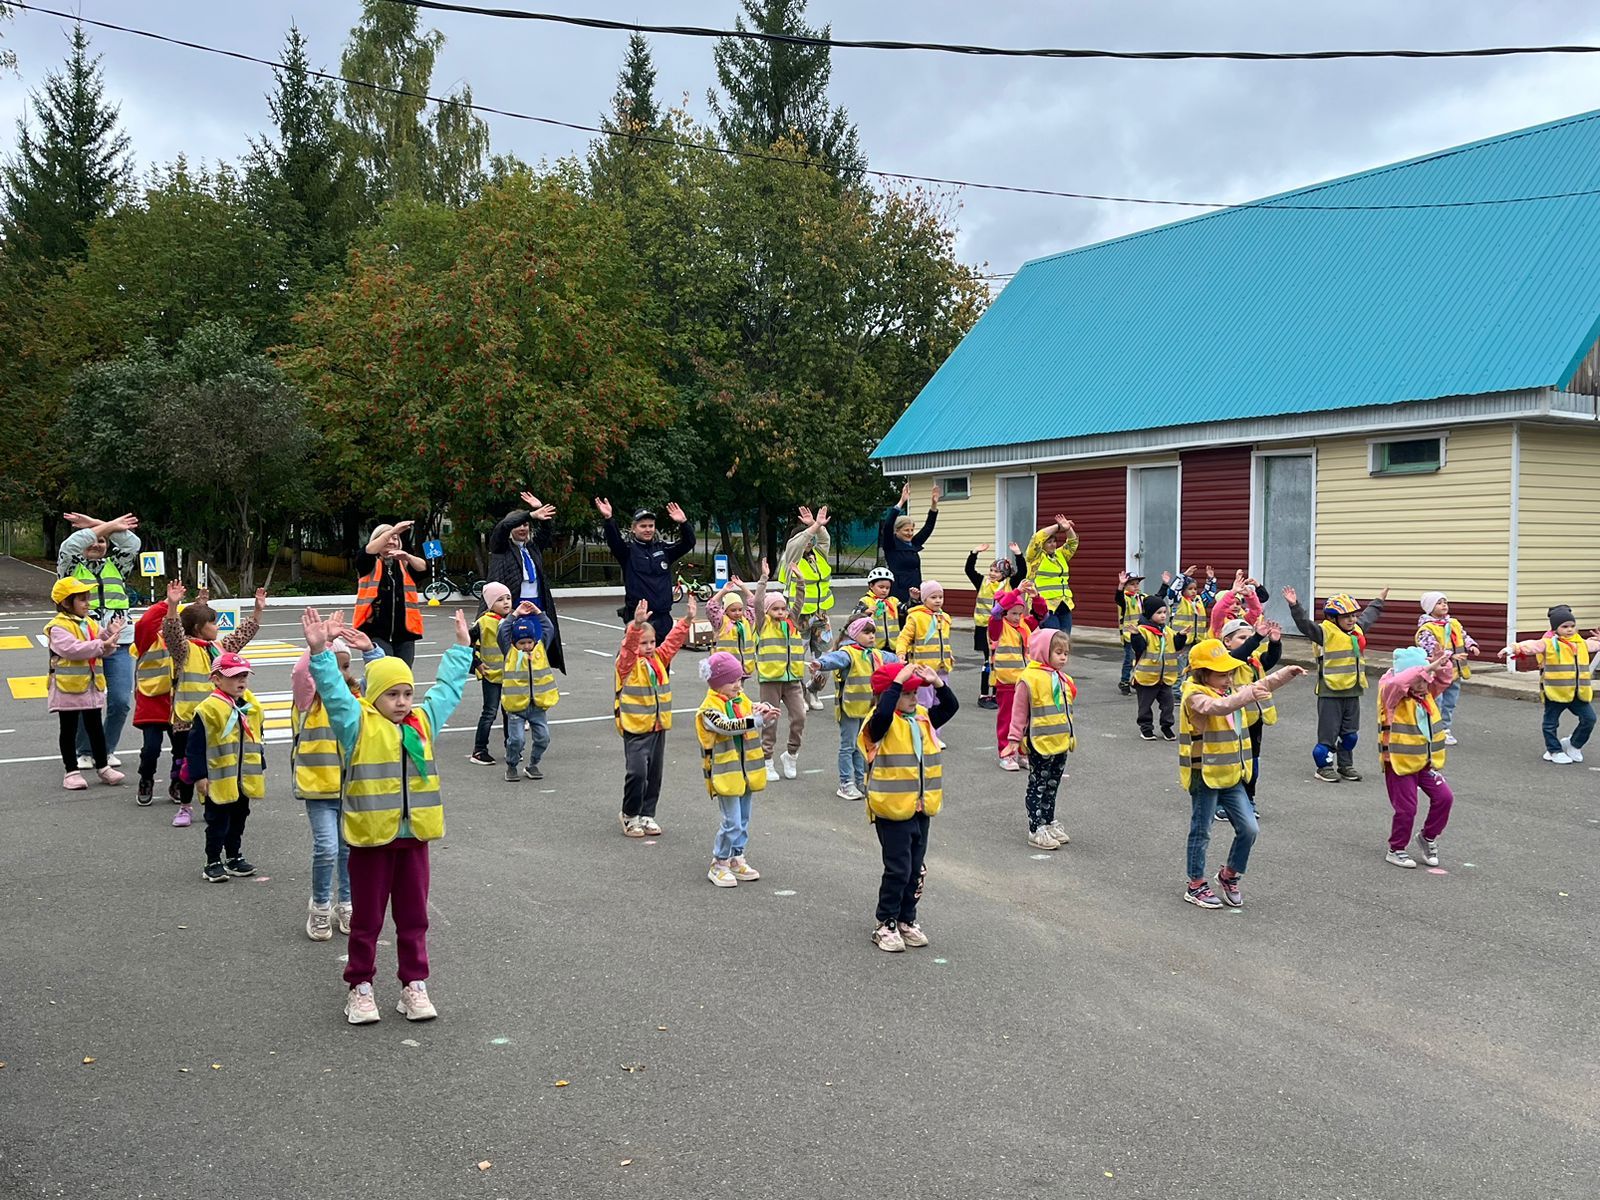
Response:
[{"label": "tallest dark conifer top in the centre, against the sky", "polygon": [[[805,0],[741,0],[734,29],[792,37],[827,37],[805,22]],[[750,24],[744,22],[744,18]],[[827,46],[790,42],[720,38],[712,51],[725,96],[707,93],[722,141],[731,149],[766,149],[798,139],[806,152],[842,179],[859,178],[867,160],[856,126],[843,107],[829,110],[827,80],[834,66]]]}]

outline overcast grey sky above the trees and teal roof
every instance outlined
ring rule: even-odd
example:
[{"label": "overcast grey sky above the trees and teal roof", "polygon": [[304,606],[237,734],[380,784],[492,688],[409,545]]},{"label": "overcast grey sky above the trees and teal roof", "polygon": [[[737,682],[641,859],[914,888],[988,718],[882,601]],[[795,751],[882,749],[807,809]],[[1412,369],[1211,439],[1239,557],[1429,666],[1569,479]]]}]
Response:
[{"label": "overcast grey sky above the trees and teal roof", "polygon": [[[50,5],[50,0],[40,0]],[[298,21],[314,64],[338,70],[358,0],[72,0],[102,18],[275,58]],[[736,0],[506,0],[506,6],[651,24],[730,26]],[[811,0],[835,37],[1118,50],[1318,50],[1600,43],[1581,0]],[[626,34],[424,13],[446,37],[435,93],[466,80],[478,102],[594,123]],[[0,149],[67,50],[66,22],[18,11],[0,37],[21,78],[0,80]],[[91,30],[142,168],[235,160],[266,122],[266,67]],[[653,38],[658,93],[706,115],[712,43]],[[869,163],[890,171],[1182,200],[1248,200],[1506,130],[1600,107],[1597,58],[1446,62],[1058,62],[838,50],[834,98]],[[586,134],[488,117],[493,147],[530,162],[581,152]],[[965,189],[960,253],[990,270],[1184,216],[1184,210]]]}]

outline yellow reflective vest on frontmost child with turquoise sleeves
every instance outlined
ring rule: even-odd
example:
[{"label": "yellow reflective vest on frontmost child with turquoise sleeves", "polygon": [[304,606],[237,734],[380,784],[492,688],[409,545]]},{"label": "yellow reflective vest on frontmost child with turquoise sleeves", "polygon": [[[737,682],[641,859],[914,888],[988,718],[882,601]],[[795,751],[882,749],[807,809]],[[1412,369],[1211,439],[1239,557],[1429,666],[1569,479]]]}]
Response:
[{"label": "yellow reflective vest on frontmost child with turquoise sleeves", "polygon": [[445,835],[445,798],[434,762],[434,726],[422,709],[411,714],[422,726],[422,771],[405,752],[400,726],[370,701],[362,701],[362,726],[344,776],[342,832],[352,846],[387,846],[400,837],[400,821],[411,837],[432,842]]}]

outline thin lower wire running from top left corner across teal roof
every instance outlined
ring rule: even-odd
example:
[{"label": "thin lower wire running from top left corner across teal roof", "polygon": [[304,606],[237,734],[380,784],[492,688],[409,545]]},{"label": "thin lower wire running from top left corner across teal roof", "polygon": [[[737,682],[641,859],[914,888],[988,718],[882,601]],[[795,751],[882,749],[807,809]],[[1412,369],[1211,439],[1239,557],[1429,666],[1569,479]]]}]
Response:
[{"label": "thin lower wire running from top left corner across teal roof", "polygon": [[[411,0],[397,0],[397,2],[410,3]],[[416,0],[416,2],[421,3],[421,0]],[[246,53],[238,51],[238,50],[224,50],[221,46],[208,46],[208,45],[202,43],[202,42],[189,42],[186,38],[171,37],[168,34],[155,34],[155,32],[152,32],[149,29],[134,29],[131,26],[118,26],[118,24],[115,24],[112,21],[94,21],[94,19],[86,18],[86,16],[78,16],[77,13],[64,13],[64,11],[56,10],[56,8],[45,8],[42,5],[24,3],[24,0],[5,0],[5,3],[6,3],[8,8],[18,8],[18,10],[22,10],[22,11],[27,11],[27,13],[42,13],[45,16],[61,18],[62,21],[75,21],[78,24],[94,26],[96,29],[109,29],[109,30],[117,32],[117,34],[131,34],[133,37],[150,38],[152,42],[165,42],[168,45],[184,46],[186,50],[198,50],[198,51],[203,51],[206,54],[219,54],[222,58],[237,59],[240,62],[256,62],[256,64],[259,64],[262,67],[270,67],[272,70],[282,70],[283,69],[283,64],[280,61],[277,61],[277,59],[258,58],[256,54],[246,54]],[[389,86],[387,83],[373,83],[371,80],[363,80],[363,78],[350,78],[349,75],[334,75],[334,74],[326,72],[326,70],[312,70],[310,67],[306,69],[306,74],[310,75],[310,77],[314,77],[314,78],[326,80],[330,83],[344,83],[344,85],[352,86],[352,88],[366,88],[370,91],[381,91],[381,93],[386,93],[386,94],[390,94],[390,96],[408,96],[411,99],[421,99],[421,101],[426,101],[429,104],[437,104],[440,107],[446,107],[446,106],[464,107],[464,109],[470,109],[472,112],[488,114],[491,117],[507,117],[510,120],[531,122],[531,123],[536,123],[536,125],[549,125],[549,126],[560,128],[560,130],[574,130],[578,133],[594,133],[594,134],[600,134],[600,136],[605,136],[605,138],[627,138],[629,141],[634,141],[634,142],[650,142],[653,146],[670,146],[670,147],[685,149],[685,150],[699,150],[702,154],[720,154],[720,155],[725,155],[725,157],[730,157],[730,158],[757,158],[757,160],[763,160],[763,162],[779,162],[779,163],[790,163],[790,165],[803,165],[803,166],[810,166],[813,170],[822,170],[818,163],[814,163],[811,160],[806,160],[806,158],[795,158],[792,155],[771,154],[768,150],[758,150],[758,149],[754,149],[754,147],[752,149],[744,149],[744,150],[736,150],[736,149],[730,149],[730,147],[725,147],[725,146],[707,146],[704,142],[691,142],[691,141],[683,141],[682,138],[667,138],[667,136],[653,134],[653,133],[634,133],[634,131],[624,131],[624,130],[606,130],[606,128],[598,126],[598,125],[581,125],[578,122],[565,122],[565,120],[558,120],[555,117],[536,117],[536,115],[528,114],[528,112],[515,112],[512,109],[496,109],[496,107],[491,107],[488,104],[477,104],[477,102],[466,104],[466,102],[462,102],[459,99],[451,99],[451,98],[445,98],[445,96],[432,96],[429,93],[413,91],[413,90],[408,90],[408,88],[395,88],[395,86]],[[1438,154],[1430,155],[1429,162],[1435,162],[1435,160],[1440,160],[1440,158],[1450,158],[1450,157],[1453,157],[1456,154],[1462,154],[1462,152],[1466,152],[1469,149],[1472,149],[1472,147],[1470,146],[1458,146],[1458,147],[1450,149],[1450,150],[1440,150]],[[1018,184],[989,184],[989,182],[978,182],[978,181],[973,181],[973,179],[952,179],[952,178],[944,178],[944,176],[936,176],[936,174],[910,174],[907,171],[882,171],[882,170],[872,170],[872,168],[864,170],[862,174],[870,174],[870,176],[875,176],[878,179],[894,179],[898,182],[939,184],[942,187],[971,187],[974,190],[982,190],[982,192],[1011,192],[1011,194],[1016,194],[1016,195],[1046,195],[1046,197],[1054,197],[1054,198],[1061,198],[1061,200],[1094,200],[1094,202],[1101,202],[1101,203],[1117,203],[1117,205],[1154,205],[1154,206],[1160,206],[1160,208],[1202,208],[1202,210],[1208,210],[1208,211],[1254,208],[1254,210],[1304,211],[1304,213],[1386,213],[1386,211],[1406,211],[1406,210],[1482,208],[1482,206],[1488,206],[1488,205],[1523,205],[1523,203],[1533,203],[1533,202],[1541,202],[1541,200],[1571,200],[1571,198],[1576,198],[1576,197],[1600,195],[1600,187],[1597,187],[1597,189],[1573,190],[1573,192],[1542,192],[1542,194],[1538,194],[1538,195],[1480,197],[1480,198],[1475,198],[1475,200],[1438,200],[1438,202],[1413,203],[1413,205],[1402,205],[1402,203],[1395,203],[1395,205],[1317,205],[1317,203],[1282,203],[1282,202],[1277,202],[1277,200],[1250,200],[1250,202],[1245,202],[1245,203],[1230,205],[1230,203],[1221,203],[1221,202],[1216,202],[1216,200],[1158,200],[1158,198],[1144,197],[1144,195],[1106,195],[1106,194],[1099,194],[1099,192],[1066,192],[1066,190],[1051,189],[1051,187],[1022,187],[1022,186],[1018,186]]]}]

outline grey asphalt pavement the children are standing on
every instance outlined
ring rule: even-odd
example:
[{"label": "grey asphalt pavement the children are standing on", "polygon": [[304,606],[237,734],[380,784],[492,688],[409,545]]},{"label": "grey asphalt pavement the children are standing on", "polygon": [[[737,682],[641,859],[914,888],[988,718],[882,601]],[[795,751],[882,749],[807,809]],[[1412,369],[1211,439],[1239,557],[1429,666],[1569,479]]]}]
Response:
[{"label": "grey asphalt pavement the children are standing on", "polygon": [[[614,605],[614,602],[610,602]],[[448,645],[430,610],[418,678]],[[43,616],[0,614],[0,637]],[[272,608],[262,643],[291,643]],[[14,629],[5,629],[14,627]],[[1182,902],[1187,797],[1107,648],[1082,648],[1070,846],[1024,842],[992,714],[946,728],[922,920],[869,933],[880,859],[811,714],[755,802],[758,883],[706,880],[717,826],[688,715],[658,840],[621,837],[608,603],[563,608],[571,674],[542,782],[442,734],[440,1018],[341,1014],[344,939],[304,934],[310,838],[286,746],[254,880],[200,880],[202,830],[130,784],[61,790],[42,699],[0,688],[0,1195],[1594,1197],[1600,1187],[1592,766],[1539,760],[1536,706],[1469,694],[1437,872],[1384,862],[1368,778],[1310,778],[1312,694],[1280,693],[1245,909]],[[3,643],[0,643],[3,645]],[[963,640],[965,645],[965,640]],[[258,691],[288,690],[288,651]],[[698,654],[675,670],[698,704]],[[37,659],[37,661],[35,661]],[[0,651],[38,674],[42,651]],[[496,746],[496,752],[499,747]],[[1213,870],[1226,853],[1213,840]]]}]

